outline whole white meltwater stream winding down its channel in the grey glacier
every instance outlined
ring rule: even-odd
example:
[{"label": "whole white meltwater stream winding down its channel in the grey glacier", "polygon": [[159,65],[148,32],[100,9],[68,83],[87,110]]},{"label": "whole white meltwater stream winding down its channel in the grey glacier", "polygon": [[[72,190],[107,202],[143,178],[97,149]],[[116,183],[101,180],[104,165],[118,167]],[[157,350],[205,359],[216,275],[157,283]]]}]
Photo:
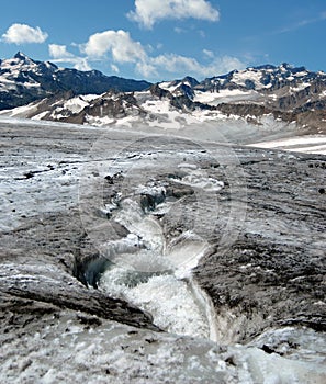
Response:
[{"label": "whole white meltwater stream winding down its channel in the grey glacier", "polygon": [[[168,208],[164,203],[160,210],[165,204]],[[213,305],[191,275],[207,249],[206,242],[188,231],[167,247],[155,216],[144,215],[130,199],[122,202],[115,221],[131,234],[103,273],[100,289],[150,313],[161,329],[216,341]],[[131,252],[131,247],[137,251]]]}]

